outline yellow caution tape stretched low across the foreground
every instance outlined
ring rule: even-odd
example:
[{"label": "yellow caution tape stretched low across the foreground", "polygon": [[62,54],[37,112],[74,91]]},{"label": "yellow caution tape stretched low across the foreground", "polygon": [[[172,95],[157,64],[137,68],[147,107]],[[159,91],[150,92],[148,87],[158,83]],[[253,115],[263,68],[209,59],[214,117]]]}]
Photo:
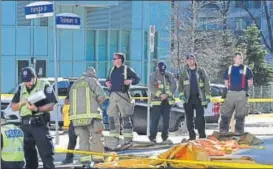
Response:
[{"label": "yellow caution tape stretched low across the foreground", "polygon": [[[90,151],[79,151],[79,150],[68,150],[63,148],[56,148],[56,153],[73,153],[73,154],[85,154],[85,155],[96,155],[96,156],[113,156],[110,153],[98,153]],[[206,165],[206,166],[217,166],[225,168],[273,168],[273,165],[264,165],[264,164],[247,164],[247,163],[227,163],[227,162],[215,162],[215,161],[191,161],[191,160],[172,160],[172,159],[152,159],[147,157],[140,156],[128,156],[128,155],[115,155],[115,157],[129,158],[129,159],[145,159],[145,160],[156,160],[162,162],[172,162],[172,163],[184,163],[191,165]]]}]

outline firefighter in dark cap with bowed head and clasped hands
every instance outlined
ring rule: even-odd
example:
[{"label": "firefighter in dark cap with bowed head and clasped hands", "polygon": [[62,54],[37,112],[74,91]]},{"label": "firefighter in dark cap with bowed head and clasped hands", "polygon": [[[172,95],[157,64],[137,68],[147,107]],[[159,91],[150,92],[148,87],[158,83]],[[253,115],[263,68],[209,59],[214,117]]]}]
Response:
[{"label": "firefighter in dark cap with bowed head and clasped hands", "polygon": [[170,110],[174,104],[174,92],[177,85],[172,73],[166,71],[166,64],[159,62],[157,69],[149,77],[149,88],[151,90],[151,126],[150,136],[151,142],[156,143],[157,127],[160,117],[163,117],[162,140],[163,143],[171,143],[168,140]]}]

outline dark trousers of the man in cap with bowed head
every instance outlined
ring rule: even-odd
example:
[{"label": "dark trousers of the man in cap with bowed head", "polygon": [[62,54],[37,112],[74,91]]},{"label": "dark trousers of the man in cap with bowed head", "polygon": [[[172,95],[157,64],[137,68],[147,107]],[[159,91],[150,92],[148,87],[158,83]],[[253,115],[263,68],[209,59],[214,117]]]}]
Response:
[{"label": "dark trousers of the man in cap with bowed head", "polygon": [[151,110],[151,124],[150,124],[150,140],[156,139],[157,128],[159,124],[160,117],[163,117],[163,130],[162,130],[162,140],[167,140],[169,137],[169,124],[170,124],[170,110],[171,105],[168,102],[163,102],[159,106],[153,106]]}]

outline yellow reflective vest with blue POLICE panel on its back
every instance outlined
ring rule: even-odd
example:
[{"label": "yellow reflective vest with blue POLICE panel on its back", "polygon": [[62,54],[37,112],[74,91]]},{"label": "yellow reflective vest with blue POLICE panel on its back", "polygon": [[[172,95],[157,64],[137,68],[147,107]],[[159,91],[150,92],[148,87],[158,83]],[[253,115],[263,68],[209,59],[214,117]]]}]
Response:
[{"label": "yellow reflective vest with blue POLICE panel on its back", "polygon": [[1,158],[5,162],[24,161],[24,133],[15,125],[1,125],[3,148]]}]

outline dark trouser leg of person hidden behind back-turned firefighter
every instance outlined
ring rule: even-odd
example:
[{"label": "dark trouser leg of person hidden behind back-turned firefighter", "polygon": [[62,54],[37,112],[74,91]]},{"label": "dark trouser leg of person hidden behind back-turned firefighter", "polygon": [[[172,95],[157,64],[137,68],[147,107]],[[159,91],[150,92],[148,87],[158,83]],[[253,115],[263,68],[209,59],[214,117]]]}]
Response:
[{"label": "dark trouser leg of person hidden behind back-turned firefighter", "polygon": [[[69,129],[68,129],[68,146],[67,149],[69,150],[74,150],[77,144],[77,135],[75,134],[75,128],[73,126],[72,121],[70,121],[69,124]],[[73,158],[74,154],[73,153],[67,153],[66,158]]]}]

